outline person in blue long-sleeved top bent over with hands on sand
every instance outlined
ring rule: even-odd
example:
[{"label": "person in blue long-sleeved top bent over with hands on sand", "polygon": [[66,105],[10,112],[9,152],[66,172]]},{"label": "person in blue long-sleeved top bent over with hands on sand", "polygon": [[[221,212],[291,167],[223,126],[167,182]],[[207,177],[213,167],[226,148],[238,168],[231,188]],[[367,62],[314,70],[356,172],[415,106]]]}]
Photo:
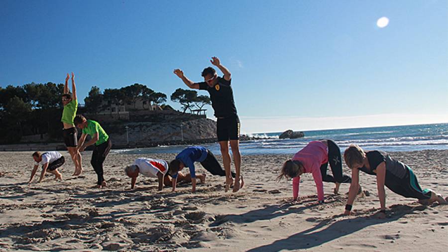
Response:
[{"label": "person in blue long-sleeved top bent over with hands on sand", "polygon": [[[221,167],[212,151],[203,146],[187,147],[182,150],[176,156],[176,159],[172,160],[168,165],[168,173],[173,177],[173,192],[176,190],[177,173],[184,167],[188,167],[190,169],[192,184],[191,191],[196,191],[195,162],[200,162],[202,166],[213,175],[225,176],[223,167]],[[231,172],[231,176],[234,178],[235,173]]]}]

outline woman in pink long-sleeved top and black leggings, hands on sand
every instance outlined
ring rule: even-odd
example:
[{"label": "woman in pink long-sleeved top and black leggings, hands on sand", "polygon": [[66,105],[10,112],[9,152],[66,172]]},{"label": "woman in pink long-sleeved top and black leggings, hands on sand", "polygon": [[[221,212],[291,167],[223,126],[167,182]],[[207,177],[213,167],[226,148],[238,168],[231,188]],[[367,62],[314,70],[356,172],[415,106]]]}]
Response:
[{"label": "woman in pink long-sleeved top and black leggings, hands on sand", "polygon": [[[328,163],[333,176],[327,174]],[[335,183],[335,194],[339,191],[340,183],[351,182],[351,178],[342,173],[340,149],[333,140],[312,141],[283,164],[277,179],[293,178],[293,201],[299,197],[300,175],[303,173],[313,174],[320,204],[324,203],[322,181]]]}]

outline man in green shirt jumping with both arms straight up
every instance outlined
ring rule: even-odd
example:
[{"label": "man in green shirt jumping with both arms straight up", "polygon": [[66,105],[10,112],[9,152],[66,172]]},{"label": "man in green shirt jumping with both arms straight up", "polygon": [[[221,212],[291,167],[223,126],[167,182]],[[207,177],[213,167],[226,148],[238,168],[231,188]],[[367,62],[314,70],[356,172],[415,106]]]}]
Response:
[{"label": "man in green shirt jumping with both arms straight up", "polygon": [[72,73],[72,92],[70,94],[70,89],[68,88],[68,80],[70,75],[67,74],[65,78],[64,94],[62,95],[62,104],[64,105],[64,110],[62,111],[61,122],[64,126],[62,132],[64,136],[64,143],[67,146],[67,150],[72,157],[73,163],[75,164],[75,172],[72,176],[78,176],[83,172],[83,167],[81,164],[81,154],[77,150],[78,145],[78,131],[73,124],[73,119],[75,118],[76,111],[78,110],[78,99],[76,97],[76,86],[75,86],[75,74]]}]

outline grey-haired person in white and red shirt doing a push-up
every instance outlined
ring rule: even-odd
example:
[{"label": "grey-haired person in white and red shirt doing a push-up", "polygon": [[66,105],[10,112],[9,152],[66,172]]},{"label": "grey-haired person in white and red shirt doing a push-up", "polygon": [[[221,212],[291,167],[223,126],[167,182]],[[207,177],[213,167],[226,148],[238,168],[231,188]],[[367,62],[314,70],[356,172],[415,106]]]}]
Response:
[{"label": "grey-haired person in white and red shirt doing a push-up", "polygon": [[[139,173],[146,177],[158,178],[159,191],[163,189],[163,185],[172,185],[172,179],[169,174],[167,174],[168,163],[165,160],[140,157],[135,159],[132,165],[126,166],[124,171],[126,172],[126,175],[131,178],[131,190],[135,187],[135,182],[137,182]],[[197,177],[204,182],[206,176],[203,174],[198,175]],[[178,184],[189,182],[191,182],[190,174],[184,175],[181,172],[178,173]]]}]

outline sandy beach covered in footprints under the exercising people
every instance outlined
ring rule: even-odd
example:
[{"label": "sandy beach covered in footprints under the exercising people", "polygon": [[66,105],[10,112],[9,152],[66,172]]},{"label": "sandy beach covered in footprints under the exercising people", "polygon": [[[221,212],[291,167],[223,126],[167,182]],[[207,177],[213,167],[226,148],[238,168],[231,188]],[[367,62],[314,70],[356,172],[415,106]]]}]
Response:
[{"label": "sandy beach covered in footprints under the exercising people", "polygon": [[[96,174],[85,152],[85,172],[71,177],[68,152],[59,170],[41,184],[31,151],[0,153],[0,250],[33,251],[447,251],[448,205],[422,206],[386,189],[387,219],[379,208],[374,176],[360,174],[364,193],[353,216],[342,216],[348,184],[340,194],[324,183],[326,203],[317,205],[312,176],[302,176],[300,203],[291,205],[291,180],[275,181],[290,155],[245,155],[245,186],[224,193],[224,179],[208,174],[196,193],[181,185],[157,192],[155,179],[138,177],[131,191],[123,168],[140,155],[111,153],[105,161],[108,187],[92,189]],[[422,188],[448,196],[448,151],[393,152],[411,166]],[[147,156],[171,160],[174,154]],[[221,156],[217,156],[220,162]],[[206,172],[197,165],[198,172]],[[344,166],[344,171],[349,172]],[[38,170],[39,176],[40,168]],[[329,172],[331,174],[331,172]]]}]

